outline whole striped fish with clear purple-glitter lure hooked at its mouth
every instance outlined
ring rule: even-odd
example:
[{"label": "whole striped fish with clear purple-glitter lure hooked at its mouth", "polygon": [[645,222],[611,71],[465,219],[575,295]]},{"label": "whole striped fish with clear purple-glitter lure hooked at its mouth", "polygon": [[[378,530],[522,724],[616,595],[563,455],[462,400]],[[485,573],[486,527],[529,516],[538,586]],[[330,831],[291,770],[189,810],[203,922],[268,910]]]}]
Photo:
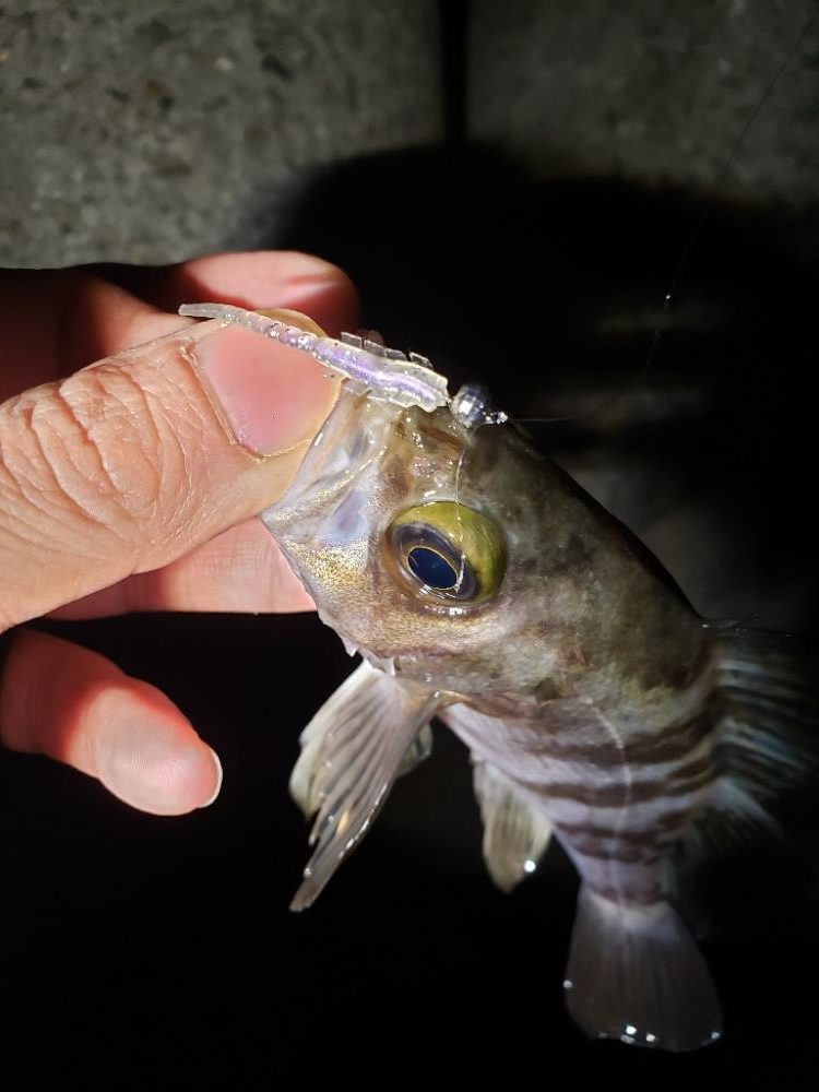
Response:
[{"label": "whole striped fish with clear purple-glitter lure hooked at its mouth", "polygon": [[472,755],[484,856],[511,890],[554,834],[581,878],[563,987],[591,1036],[667,1051],[720,1037],[673,905],[709,820],[768,822],[810,763],[816,663],[712,627],[644,547],[477,388],[423,357],[222,305],[345,376],[286,496],[261,513],[361,664],[301,735],[314,819],[294,909],[358,844],[443,721]]}]

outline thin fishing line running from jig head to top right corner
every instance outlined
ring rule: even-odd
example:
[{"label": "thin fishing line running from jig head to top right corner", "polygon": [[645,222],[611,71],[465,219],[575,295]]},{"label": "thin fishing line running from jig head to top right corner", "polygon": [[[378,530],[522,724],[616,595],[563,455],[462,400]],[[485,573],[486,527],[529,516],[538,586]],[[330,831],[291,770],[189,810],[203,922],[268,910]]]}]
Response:
[{"label": "thin fishing line running from jig head to top right corner", "polygon": [[[775,91],[776,84],[779,83],[779,81],[780,81],[781,76],[783,75],[783,73],[785,72],[785,70],[791,64],[791,61],[794,59],[794,57],[798,52],[799,47],[802,46],[803,41],[805,40],[805,37],[807,36],[808,32],[814,26],[814,23],[816,22],[816,20],[817,20],[817,13],[815,12],[805,22],[805,24],[803,25],[803,27],[799,31],[798,35],[796,36],[796,39],[794,40],[793,45],[791,46],[791,48],[785,54],[784,59],[781,61],[779,68],[775,70],[774,74],[769,80],[769,82],[768,82],[764,91],[762,92],[762,95],[757,100],[753,109],[750,112],[750,116],[748,117],[748,119],[743,124],[743,127],[741,127],[741,129],[739,131],[739,134],[737,135],[736,140],[734,141],[734,145],[733,145],[733,147],[732,147],[732,150],[731,150],[727,158],[725,159],[725,162],[723,163],[722,167],[720,168],[720,173],[716,176],[716,180],[713,182],[713,186],[712,186],[712,189],[713,189],[714,192],[716,192],[716,190],[719,190],[720,186],[722,185],[722,182],[727,177],[727,174],[731,170],[732,166],[734,165],[734,163],[736,161],[736,157],[738,156],[739,152],[741,151],[741,147],[743,147],[743,145],[744,145],[744,143],[745,143],[747,136],[748,136],[748,133],[750,132],[751,128],[753,127],[753,124],[756,123],[756,121],[759,118],[760,114],[762,112],[762,109],[767,106],[767,104],[769,103],[769,100],[773,96],[773,93]],[[674,302],[676,300],[677,293],[679,292],[680,285],[682,284],[685,274],[686,274],[686,272],[688,270],[688,265],[690,263],[691,256],[692,256],[692,253],[693,253],[693,251],[695,251],[695,249],[697,247],[697,244],[700,240],[700,237],[701,237],[702,232],[703,232],[703,229],[705,227],[705,224],[711,218],[711,214],[714,211],[715,204],[716,204],[716,198],[715,197],[709,198],[705,201],[704,206],[703,206],[703,209],[702,209],[702,211],[701,211],[701,213],[699,215],[699,218],[698,218],[697,223],[695,224],[693,229],[692,229],[690,236],[688,237],[687,242],[682,247],[682,250],[681,250],[680,256],[679,256],[679,258],[677,260],[677,263],[676,263],[674,273],[672,275],[672,278],[668,282],[668,287],[667,287],[667,289],[666,289],[666,292],[665,292],[665,294],[663,296],[663,305],[662,305],[662,309],[661,309],[661,318],[657,321],[656,325],[654,327],[654,332],[652,334],[651,343],[649,345],[649,352],[648,352],[648,354],[645,356],[645,359],[643,360],[642,365],[640,366],[640,368],[638,369],[638,371],[634,373],[634,377],[632,379],[632,384],[636,385],[636,387],[639,387],[639,384],[645,379],[645,376],[646,376],[646,373],[648,373],[648,371],[649,371],[652,363],[654,361],[654,357],[656,356],[657,349],[660,347],[660,342],[662,341],[662,337],[663,337],[662,318],[669,311],[672,302]],[[556,425],[556,424],[561,424],[561,423],[565,423],[565,422],[584,420],[584,419],[586,419],[589,417],[593,417],[596,414],[602,413],[602,412],[610,408],[613,405],[615,405],[617,402],[619,402],[624,396],[625,396],[625,392],[624,391],[619,391],[617,394],[613,394],[605,402],[601,402],[600,405],[597,405],[597,406],[594,407],[594,410],[587,410],[585,413],[565,414],[565,415],[561,415],[561,416],[557,416],[557,417],[513,417],[513,418],[510,418],[510,419],[513,420],[515,424],[519,424],[519,425]]]}]

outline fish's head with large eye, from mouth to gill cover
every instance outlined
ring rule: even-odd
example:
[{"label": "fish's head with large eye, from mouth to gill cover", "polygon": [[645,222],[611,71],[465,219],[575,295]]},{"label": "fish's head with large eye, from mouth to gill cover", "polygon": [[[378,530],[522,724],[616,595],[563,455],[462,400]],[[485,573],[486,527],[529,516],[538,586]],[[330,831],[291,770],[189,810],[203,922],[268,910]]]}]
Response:
[{"label": "fish's head with large eye, from mouth to gill cover", "polygon": [[345,383],[262,520],[351,652],[497,697],[534,692],[572,643],[585,555],[567,500],[514,426],[470,427],[449,406],[406,408]]}]

